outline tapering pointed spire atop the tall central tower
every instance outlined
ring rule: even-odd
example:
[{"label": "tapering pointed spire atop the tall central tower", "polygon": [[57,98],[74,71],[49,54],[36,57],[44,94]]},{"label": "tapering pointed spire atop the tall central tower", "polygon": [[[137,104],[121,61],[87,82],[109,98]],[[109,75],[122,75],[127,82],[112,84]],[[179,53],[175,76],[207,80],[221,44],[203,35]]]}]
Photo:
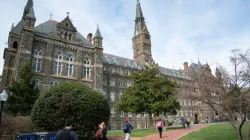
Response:
[{"label": "tapering pointed spire atop the tall central tower", "polygon": [[134,36],[137,36],[138,34],[142,32],[144,25],[145,25],[144,19],[145,18],[143,17],[143,14],[142,14],[140,2],[139,0],[137,0]]}]

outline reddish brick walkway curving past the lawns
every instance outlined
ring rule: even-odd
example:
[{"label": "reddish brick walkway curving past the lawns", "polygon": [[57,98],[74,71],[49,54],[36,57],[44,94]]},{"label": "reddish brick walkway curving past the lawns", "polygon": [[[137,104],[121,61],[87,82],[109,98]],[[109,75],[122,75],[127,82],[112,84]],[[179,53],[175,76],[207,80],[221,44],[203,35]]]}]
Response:
[{"label": "reddish brick walkway curving past the lawns", "polygon": [[[180,137],[192,131],[196,131],[200,128],[204,128],[207,126],[209,126],[209,124],[192,125],[191,128],[189,129],[186,128],[186,129],[164,131],[162,133],[162,138],[159,137],[159,134],[154,134],[154,135],[146,136],[144,138],[131,138],[131,140],[178,140]],[[124,139],[125,137],[108,137],[108,140],[124,140]]]}]

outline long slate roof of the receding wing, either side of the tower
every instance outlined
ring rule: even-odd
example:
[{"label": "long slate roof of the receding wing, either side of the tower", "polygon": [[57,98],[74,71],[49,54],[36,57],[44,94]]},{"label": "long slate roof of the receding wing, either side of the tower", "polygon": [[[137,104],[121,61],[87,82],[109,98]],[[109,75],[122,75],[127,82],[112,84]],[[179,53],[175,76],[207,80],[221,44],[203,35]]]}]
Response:
[{"label": "long slate roof of the receding wing, either side of the tower", "polygon": [[[107,53],[103,53],[103,63],[104,64],[113,64],[117,66],[127,67],[131,69],[141,69],[143,67],[143,64],[135,62],[132,59],[123,58]],[[174,70],[169,68],[160,67],[160,71],[164,75],[168,75],[171,77],[177,77],[182,79],[188,79],[189,77],[185,75],[183,70]]]}]

